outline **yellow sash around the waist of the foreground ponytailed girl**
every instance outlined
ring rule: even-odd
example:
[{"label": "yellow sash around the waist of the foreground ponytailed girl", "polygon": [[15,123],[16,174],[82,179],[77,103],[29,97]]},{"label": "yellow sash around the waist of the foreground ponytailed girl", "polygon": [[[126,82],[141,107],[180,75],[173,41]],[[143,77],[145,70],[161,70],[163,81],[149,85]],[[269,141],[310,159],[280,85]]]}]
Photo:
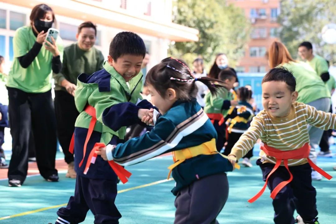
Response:
[{"label": "yellow sash around the waist of the foreground ponytailed girl", "polygon": [[[171,171],[177,167],[179,164],[183,163],[185,160],[193,158],[198,155],[211,155],[211,154],[216,154],[219,153],[216,149],[216,139],[213,138],[208,142],[204,142],[200,145],[189,147],[189,148],[184,148],[180,149],[177,151],[173,151],[173,161],[174,164],[170,165],[168,169],[170,170],[168,173],[168,178],[170,177]],[[226,155],[223,155],[219,153],[221,156],[223,156],[226,159],[229,159]],[[235,167],[237,169],[240,169],[239,164],[235,164]]]}]

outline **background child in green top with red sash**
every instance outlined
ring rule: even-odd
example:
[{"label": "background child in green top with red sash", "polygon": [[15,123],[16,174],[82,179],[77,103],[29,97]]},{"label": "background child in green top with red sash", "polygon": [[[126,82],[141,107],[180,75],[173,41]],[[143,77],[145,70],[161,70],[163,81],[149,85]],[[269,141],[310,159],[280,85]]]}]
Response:
[{"label": "background child in green top with red sash", "polygon": [[225,88],[217,90],[216,95],[208,93],[205,96],[204,112],[210,118],[215,130],[217,131],[216,147],[220,152],[225,143],[226,125],[224,118],[226,117],[230,106],[238,105],[236,100],[233,100],[231,89],[236,82],[236,75],[229,68],[223,69],[218,75],[218,79],[225,83]]}]

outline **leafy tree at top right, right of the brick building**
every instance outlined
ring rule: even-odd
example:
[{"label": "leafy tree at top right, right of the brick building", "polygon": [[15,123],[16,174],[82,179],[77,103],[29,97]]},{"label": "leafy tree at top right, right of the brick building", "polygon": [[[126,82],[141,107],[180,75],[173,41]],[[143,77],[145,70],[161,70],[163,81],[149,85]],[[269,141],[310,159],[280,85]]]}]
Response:
[{"label": "leafy tree at top right, right of the brick building", "polygon": [[336,2],[331,0],[283,0],[279,24],[282,28],[278,35],[291,55],[298,56],[301,42],[313,44],[313,52],[336,62],[336,44],[327,44],[322,40],[322,28],[336,23]]}]

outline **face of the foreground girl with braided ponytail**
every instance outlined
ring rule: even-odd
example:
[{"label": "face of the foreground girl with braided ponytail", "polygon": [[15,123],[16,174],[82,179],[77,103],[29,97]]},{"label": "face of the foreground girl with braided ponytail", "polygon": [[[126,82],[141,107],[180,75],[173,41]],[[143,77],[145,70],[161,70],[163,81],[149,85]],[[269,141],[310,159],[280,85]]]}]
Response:
[{"label": "face of the foreground girl with braided ponytail", "polygon": [[162,115],[167,113],[167,111],[172,107],[174,102],[177,100],[176,92],[171,88],[167,89],[165,97],[162,97],[160,93],[151,84],[148,84],[148,90],[151,94],[153,104],[159,109]]}]

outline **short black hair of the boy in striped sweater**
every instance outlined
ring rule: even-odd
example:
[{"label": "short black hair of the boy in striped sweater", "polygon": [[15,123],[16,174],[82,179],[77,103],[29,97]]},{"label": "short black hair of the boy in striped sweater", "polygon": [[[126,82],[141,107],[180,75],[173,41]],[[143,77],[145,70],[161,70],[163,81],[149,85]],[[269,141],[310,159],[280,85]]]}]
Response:
[{"label": "short black hair of the boy in striped sweater", "polygon": [[289,70],[282,66],[277,66],[276,68],[269,70],[269,72],[262,79],[261,84],[270,81],[285,82],[291,92],[295,91],[295,77]]}]

